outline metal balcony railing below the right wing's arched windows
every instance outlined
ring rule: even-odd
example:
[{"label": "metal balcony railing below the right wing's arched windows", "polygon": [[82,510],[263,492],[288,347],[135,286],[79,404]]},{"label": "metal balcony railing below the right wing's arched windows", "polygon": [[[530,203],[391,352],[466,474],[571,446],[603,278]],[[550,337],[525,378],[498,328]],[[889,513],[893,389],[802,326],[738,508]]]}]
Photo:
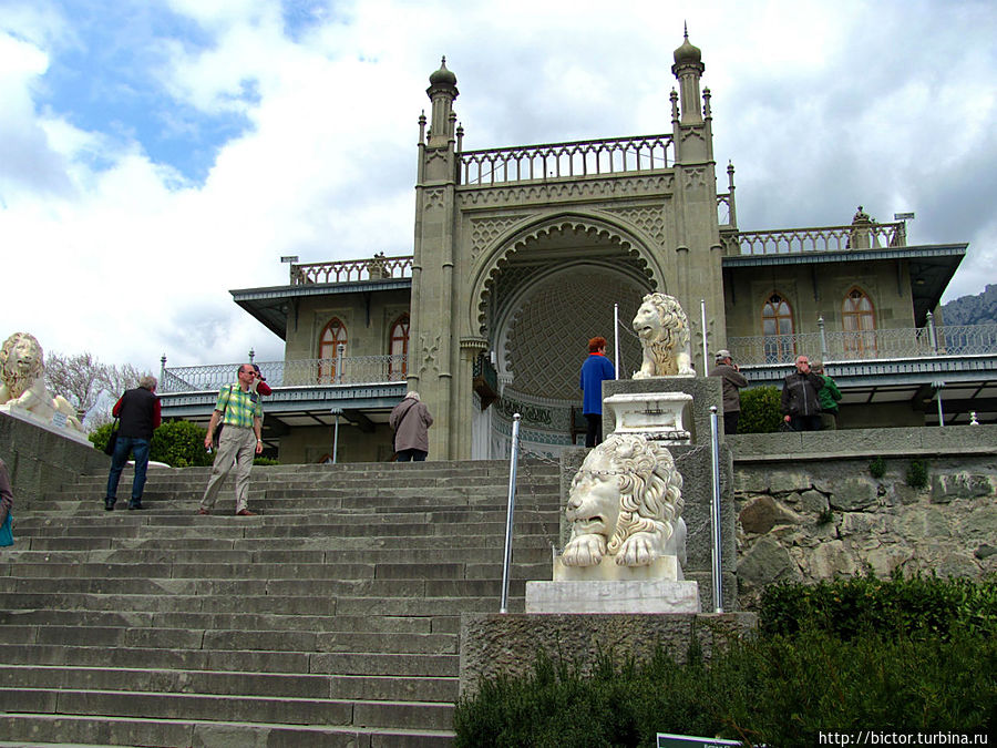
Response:
[{"label": "metal balcony railing below the right wing's arched windows", "polygon": [[728,338],[727,347],[747,366],[792,365],[801,355],[828,361],[974,356],[997,353],[997,325],[752,336]]}]

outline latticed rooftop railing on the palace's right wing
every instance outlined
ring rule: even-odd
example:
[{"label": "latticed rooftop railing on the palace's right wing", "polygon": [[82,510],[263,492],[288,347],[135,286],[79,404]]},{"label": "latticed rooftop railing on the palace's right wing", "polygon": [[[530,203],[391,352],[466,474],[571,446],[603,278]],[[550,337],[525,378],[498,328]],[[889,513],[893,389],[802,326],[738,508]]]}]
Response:
[{"label": "latticed rooftop railing on the palace's right wing", "polygon": [[738,233],[738,245],[742,255],[876,249],[903,247],[906,243],[904,222]]}]

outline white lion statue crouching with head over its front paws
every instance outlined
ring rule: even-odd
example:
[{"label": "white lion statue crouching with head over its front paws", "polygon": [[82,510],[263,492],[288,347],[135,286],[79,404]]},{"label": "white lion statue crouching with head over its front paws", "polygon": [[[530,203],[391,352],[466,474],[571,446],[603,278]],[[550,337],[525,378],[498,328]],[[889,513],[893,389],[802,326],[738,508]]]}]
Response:
[{"label": "white lion statue crouching with head over its front paws", "polygon": [[648,566],[674,555],[686,563],[682,475],[671,452],[644,434],[611,433],[572,481],[565,515],[572,536],[565,566]]}]

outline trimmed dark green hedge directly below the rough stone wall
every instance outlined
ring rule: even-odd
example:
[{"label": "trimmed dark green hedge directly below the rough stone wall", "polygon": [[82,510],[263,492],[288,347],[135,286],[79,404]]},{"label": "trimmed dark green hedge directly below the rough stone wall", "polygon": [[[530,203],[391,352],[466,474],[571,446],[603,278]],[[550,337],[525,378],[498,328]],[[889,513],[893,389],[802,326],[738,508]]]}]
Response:
[{"label": "trimmed dark green hedge directly below the rough stone wall", "polygon": [[874,632],[947,641],[957,629],[997,636],[997,577],[904,578],[896,572],[890,580],[868,575],[774,584],[762,594],[759,619],[769,636],[793,636],[806,628],[843,639]]}]

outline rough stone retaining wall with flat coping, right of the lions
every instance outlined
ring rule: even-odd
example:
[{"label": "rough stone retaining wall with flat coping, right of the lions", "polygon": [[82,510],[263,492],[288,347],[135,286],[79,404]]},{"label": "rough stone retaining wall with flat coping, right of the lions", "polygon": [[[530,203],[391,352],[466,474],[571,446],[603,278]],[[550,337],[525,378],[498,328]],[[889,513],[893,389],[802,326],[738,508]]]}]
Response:
[{"label": "rough stone retaining wall with flat coping, right of the lions", "polygon": [[[765,585],[997,572],[997,427],[733,437],[739,607]],[[885,460],[873,478],[870,463]],[[907,484],[913,460],[928,483]]]}]

